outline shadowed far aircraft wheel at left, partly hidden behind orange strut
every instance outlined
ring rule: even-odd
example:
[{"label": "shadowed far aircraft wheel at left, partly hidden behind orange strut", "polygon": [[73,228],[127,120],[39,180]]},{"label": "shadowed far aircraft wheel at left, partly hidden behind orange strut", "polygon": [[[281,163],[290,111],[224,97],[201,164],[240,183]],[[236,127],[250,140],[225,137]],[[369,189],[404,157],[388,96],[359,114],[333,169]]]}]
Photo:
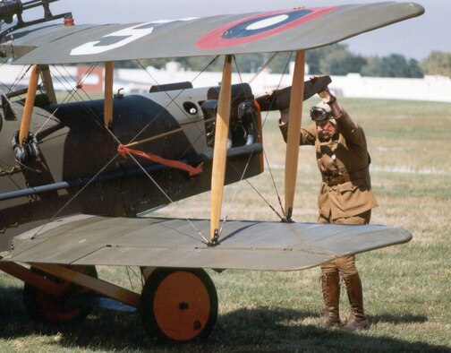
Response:
[{"label": "shadowed far aircraft wheel at left, partly hidden behind orange strut", "polygon": [[[90,277],[96,279],[98,278],[95,266],[69,267],[74,271],[88,274]],[[71,303],[72,298],[83,296],[87,293],[88,289],[55,278],[55,276],[49,275],[34,267],[31,267],[30,270],[40,274],[47,280],[54,280],[66,287],[62,295],[55,297],[25,282],[23,286],[23,304],[31,320],[50,325],[79,323],[92,311],[92,307],[90,306],[79,306]]]}]

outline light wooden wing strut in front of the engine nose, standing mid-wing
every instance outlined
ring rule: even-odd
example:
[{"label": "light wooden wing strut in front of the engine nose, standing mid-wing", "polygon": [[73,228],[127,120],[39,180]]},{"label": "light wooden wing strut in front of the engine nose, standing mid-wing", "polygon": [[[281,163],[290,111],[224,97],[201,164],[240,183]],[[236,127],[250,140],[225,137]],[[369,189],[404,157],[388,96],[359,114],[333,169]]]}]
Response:
[{"label": "light wooden wing strut in front of the engine nose, standing mid-wing", "polygon": [[211,172],[211,220],[210,244],[215,245],[219,237],[219,217],[225,181],[225,159],[227,157],[227,137],[230,122],[232,97],[232,56],[225,56],[224,70],[217,104],[215,147],[213,149],[213,169]]}]

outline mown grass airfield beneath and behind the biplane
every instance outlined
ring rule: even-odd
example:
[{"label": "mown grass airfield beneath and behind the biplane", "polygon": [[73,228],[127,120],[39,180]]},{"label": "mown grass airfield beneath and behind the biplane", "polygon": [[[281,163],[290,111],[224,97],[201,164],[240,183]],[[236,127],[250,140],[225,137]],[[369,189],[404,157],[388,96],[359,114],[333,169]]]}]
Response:
[{"label": "mown grass airfield beneath and behind the biplane", "polygon": [[[71,329],[30,323],[21,303],[21,282],[0,274],[0,351],[451,352],[451,105],[379,99],[342,99],[342,104],[369,141],[373,190],[380,205],[371,222],[408,228],[414,235],[407,245],[357,256],[369,330],[319,328],[323,305],[318,268],[208,271],[219,297],[217,325],[206,342],[176,347],[156,346],[137,314],[96,309]],[[283,195],[285,143],[277,116],[268,116],[264,134],[271,173]],[[277,207],[268,168],[251,183]],[[319,172],[310,147],[301,148],[296,187],[294,220],[315,221]],[[158,214],[208,217],[208,209],[209,194],[202,194]],[[228,219],[277,220],[245,182],[226,187],[223,213]],[[124,269],[98,271],[140,290],[140,281],[132,278],[130,283]],[[343,295],[344,318],[348,309]]]}]

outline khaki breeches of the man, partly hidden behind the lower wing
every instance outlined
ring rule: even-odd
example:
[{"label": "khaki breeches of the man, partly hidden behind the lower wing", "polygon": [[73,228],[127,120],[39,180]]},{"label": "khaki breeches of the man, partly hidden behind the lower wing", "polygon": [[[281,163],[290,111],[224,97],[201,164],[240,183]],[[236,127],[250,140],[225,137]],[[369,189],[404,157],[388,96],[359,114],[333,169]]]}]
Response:
[{"label": "khaki breeches of the man, partly hidden behind the lower wing", "polygon": [[[336,223],[336,224],[368,224],[370,223],[371,210],[363,212],[353,217],[341,218],[338,220],[330,220],[321,215],[319,215],[319,223]],[[343,277],[352,276],[357,273],[357,268],[355,267],[355,256],[343,256],[337,257],[328,263],[323,263],[321,265],[321,273],[336,273],[339,272]]]}]

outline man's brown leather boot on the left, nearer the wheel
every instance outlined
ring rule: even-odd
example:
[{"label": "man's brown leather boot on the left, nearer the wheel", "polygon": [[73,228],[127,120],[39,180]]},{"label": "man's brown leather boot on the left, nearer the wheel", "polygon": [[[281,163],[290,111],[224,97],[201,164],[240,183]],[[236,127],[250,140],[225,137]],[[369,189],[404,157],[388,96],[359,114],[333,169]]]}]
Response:
[{"label": "man's brown leather boot on the left, nearer the wheel", "polygon": [[340,277],[338,272],[328,272],[321,275],[321,287],[326,311],[321,326],[328,328],[340,325],[338,305],[340,303]]}]

